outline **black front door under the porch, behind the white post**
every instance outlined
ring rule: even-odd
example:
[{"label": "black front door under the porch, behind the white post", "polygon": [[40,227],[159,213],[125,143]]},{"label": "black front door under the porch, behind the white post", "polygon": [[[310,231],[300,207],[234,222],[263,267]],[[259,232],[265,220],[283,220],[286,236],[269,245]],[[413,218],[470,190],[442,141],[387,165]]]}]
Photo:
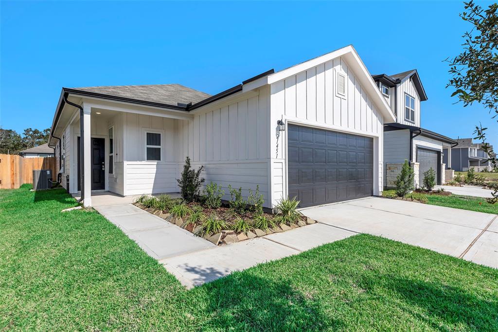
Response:
[{"label": "black front door under the porch, behind the white post", "polygon": [[[91,172],[92,190],[105,188],[105,140],[101,138],[91,138]],[[81,167],[80,167],[80,138],[78,137],[78,190],[81,190]]]}]

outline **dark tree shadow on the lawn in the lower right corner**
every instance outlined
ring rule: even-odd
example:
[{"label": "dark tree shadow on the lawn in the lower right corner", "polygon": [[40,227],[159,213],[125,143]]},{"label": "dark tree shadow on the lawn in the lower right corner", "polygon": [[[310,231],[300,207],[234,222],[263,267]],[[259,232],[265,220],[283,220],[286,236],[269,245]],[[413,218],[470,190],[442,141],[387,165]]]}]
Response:
[{"label": "dark tree shadow on the lawn in the lower right corner", "polygon": [[412,315],[435,330],[446,331],[441,326],[443,323],[454,328],[464,325],[467,331],[498,331],[496,298],[488,301],[454,286],[395,276],[385,278],[382,286],[407,304],[421,309]]}]

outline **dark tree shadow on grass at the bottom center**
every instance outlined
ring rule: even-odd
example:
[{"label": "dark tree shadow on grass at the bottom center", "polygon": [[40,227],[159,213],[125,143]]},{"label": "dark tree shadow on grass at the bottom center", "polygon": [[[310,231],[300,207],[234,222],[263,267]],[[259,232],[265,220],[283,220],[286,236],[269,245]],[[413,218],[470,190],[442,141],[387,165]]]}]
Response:
[{"label": "dark tree shadow on grass at the bottom center", "polygon": [[207,298],[203,330],[325,331],[344,328],[286,280],[236,272],[198,289]]}]

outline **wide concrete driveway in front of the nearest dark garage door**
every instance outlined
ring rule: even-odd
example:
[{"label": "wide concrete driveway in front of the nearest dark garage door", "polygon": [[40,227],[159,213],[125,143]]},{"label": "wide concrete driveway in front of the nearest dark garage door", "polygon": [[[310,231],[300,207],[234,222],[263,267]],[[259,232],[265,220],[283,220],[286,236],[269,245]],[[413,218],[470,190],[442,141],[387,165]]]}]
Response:
[{"label": "wide concrete driveway in front of the nearest dark garage door", "polygon": [[498,220],[494,214],[379,197],[301,212],[329,226],[498,268]]}]

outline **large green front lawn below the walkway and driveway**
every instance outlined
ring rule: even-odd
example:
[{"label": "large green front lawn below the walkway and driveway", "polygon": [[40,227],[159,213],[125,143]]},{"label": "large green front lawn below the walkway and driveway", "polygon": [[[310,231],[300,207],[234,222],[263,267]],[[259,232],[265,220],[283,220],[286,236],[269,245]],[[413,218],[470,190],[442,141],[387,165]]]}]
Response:
[{"label": "large green front lawn below the walkway and driveway", "polygon": [[62,189],[0,191],[0,330],[498,331],[498,270],[358,235],[187,291]]}]

